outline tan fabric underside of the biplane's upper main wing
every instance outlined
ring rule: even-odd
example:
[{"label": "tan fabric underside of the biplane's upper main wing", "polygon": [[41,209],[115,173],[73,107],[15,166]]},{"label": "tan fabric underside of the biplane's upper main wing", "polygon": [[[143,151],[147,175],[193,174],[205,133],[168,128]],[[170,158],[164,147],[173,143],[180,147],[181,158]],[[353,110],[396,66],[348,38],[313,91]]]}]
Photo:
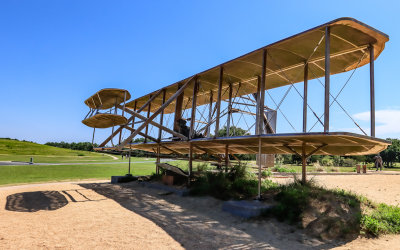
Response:
[{"label": "tan fabric underside of the biplane's upper main wing", "polygon": [[[226,91],[229,84],[232,84],[233,91],[237,92],[237,96],[257,92],[257,77],[261,75],[264,49],[267,50],[266,89],[302,82],[305,62],[308,62],[309,70],[313,72],[313,74],[309,74],[310,79],[323,77],[325,74],[324,34],[326,26],[330,26],[331,30],[331,74],[346,72],[368,64],[368,46],[374,46],[376,59],[389,40],[386,34],[355,19],[336,19],[196,74],[200,83],[197,106],[209,102],[210,91],[217,93],[221,67],[223,67],[223,100],[229,98],[229,91]],[[363,59],[360,61],[361,58]],[[165,87],[166,100],[177,91],[179,85],[184,84],[190,78]],[[134,108],[135,101],[137,102],[136,107],[141,107],[156,92],[127,103],[127,107]],[[193,88],[187,88],[184,92],[184,109],[191,108],[192,95]],[[152,102],[151,112],[156,111],[161,105],[162,95],[159,95]],[[164,113],[168,114],[174,111],[175,102],[172,102]]]}]

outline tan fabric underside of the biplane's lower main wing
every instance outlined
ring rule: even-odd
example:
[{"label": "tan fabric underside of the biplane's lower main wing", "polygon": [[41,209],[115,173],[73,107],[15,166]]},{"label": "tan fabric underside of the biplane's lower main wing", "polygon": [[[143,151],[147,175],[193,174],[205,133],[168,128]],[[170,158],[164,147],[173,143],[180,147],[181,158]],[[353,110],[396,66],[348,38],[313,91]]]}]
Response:
[{"label": "tan fabric underside of the biplane's lower main wing", "polygon": [[[226,145],[229,145],[230,154],[257,154],[259,139],[263,154],[293,154],[293,150],[300,154],[305,143],[306,154],[367,155],[377,154],[390,145],[390,142],[382,139],[346,132],[250,135],[212,140],[203,138],[191,140],[190,143],[195,154],[224,154]],[[128,144],[125,148],[157,152],[157,145],[153,142]],[[188,154],[189,142],[162,142],[160,149],[162,154]]]}]

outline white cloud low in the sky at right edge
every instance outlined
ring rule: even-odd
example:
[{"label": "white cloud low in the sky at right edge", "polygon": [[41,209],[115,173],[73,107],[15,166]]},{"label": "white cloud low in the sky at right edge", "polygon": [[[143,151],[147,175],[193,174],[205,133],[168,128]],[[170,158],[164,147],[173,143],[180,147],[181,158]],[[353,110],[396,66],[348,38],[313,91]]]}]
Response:
[{"label": "white cloud low in the sky at right edge", "polygon": [[[357,113],[357,120],[370,121],[370,112]],[[375,111],[376,135],[378,137],[396,137],[400,134],[400,110],[384,109]]]}]

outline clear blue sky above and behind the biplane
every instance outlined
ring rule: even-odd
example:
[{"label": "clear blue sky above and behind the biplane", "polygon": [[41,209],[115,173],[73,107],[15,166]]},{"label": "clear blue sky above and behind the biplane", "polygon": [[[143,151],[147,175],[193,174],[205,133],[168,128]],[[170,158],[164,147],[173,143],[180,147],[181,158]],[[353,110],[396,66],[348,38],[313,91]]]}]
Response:
[{"label": "clear blue sky above and behind the biplane", "polygon": [[[3,0],[0,137],[90,141],[92,130],[81,123],[88,111],[83,101],[101,88],[128,89],[139,97],[345,16],[390,36],[376,61],[377,135],[400,137],[400,4],[394,0]],[[368,129],[368,67],[354,78],[340,100]],[[344,80],[333,78],[337,86]],[[322,95],[322,87],[318,91]],[[291,107],[299,99],[291,95],[283,108],[295,115]],[[331,130],[354,129],[337,107],[332,110],[337,118]]]}]

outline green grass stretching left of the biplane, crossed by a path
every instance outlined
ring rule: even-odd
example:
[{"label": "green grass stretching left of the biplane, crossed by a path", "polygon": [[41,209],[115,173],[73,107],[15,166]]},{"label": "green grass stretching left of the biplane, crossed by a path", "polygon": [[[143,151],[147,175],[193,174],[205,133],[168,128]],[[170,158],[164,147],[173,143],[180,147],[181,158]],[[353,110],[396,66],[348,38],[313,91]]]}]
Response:
[{"label": "green grass stretching left of the biplane, crossed by a path", "polygon": [[[120,157],[115,160],[101,153],[0,139],[0,161],[29,161],[30,157],[34,157],[34,162],[42,163],[115,162],[116,164],[0,166],[0,185],[90,178],[109,179],[112,175],[124,175],[128,172],[128,164],[121,164]],[[148,163],[135,163],[138,161],[148,161]],[[155,170],[154,159],[132,158],[132,162],[134,175],[151,174]]]}]

